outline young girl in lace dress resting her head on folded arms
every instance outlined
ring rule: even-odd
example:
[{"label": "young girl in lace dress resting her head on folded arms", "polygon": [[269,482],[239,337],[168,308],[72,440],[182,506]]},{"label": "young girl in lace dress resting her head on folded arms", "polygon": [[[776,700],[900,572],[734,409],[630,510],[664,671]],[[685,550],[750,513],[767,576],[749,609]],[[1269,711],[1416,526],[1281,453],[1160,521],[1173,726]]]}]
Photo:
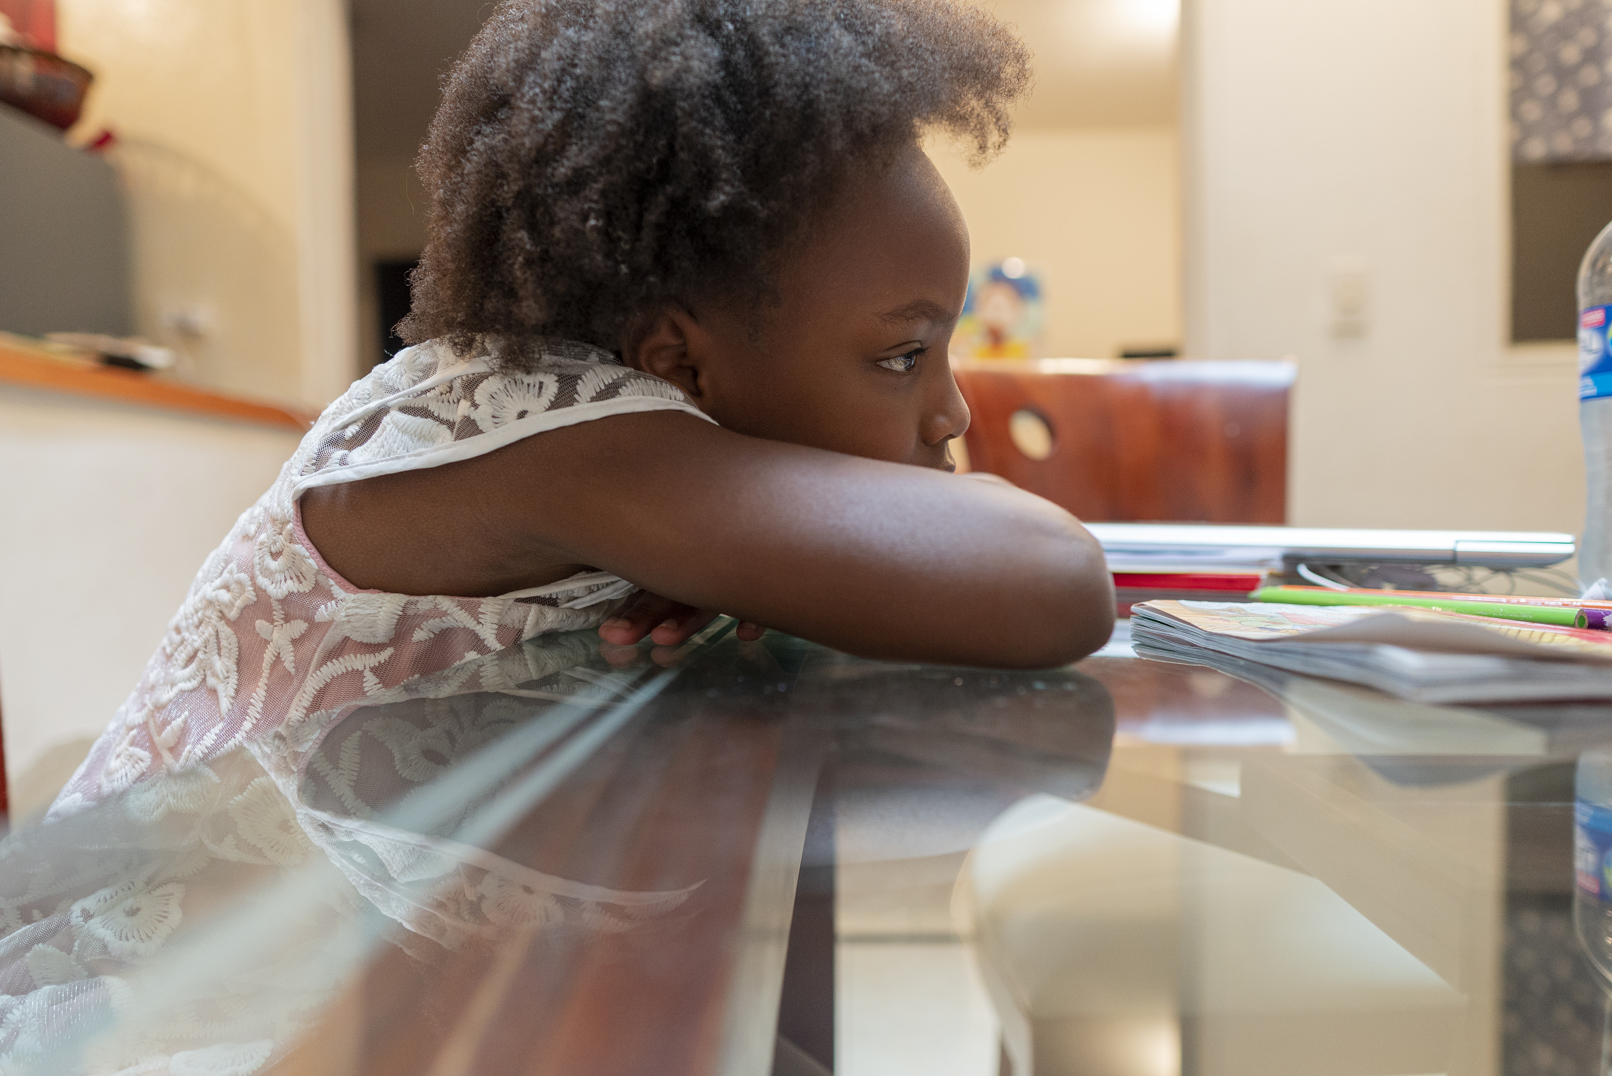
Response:
[{"label": "young girl in lace dress resting her head on folded arms", "polygon": [[503,3],[421,155],[414,347],[208,558],[55,813],[242,744],[305,758],[550,632],[675,644],[722,611],[895,660],[1101,645],[1093,539],[949,473],[969,240],[919,139],[988,158],[1027,84],[961,2]]}]

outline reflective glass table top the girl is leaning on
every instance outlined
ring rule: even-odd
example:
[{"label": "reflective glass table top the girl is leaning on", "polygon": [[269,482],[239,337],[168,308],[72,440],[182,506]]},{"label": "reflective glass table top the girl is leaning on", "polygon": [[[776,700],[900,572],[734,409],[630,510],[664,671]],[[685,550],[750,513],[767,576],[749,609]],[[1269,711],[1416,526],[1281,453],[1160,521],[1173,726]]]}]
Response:
[{"label": "reflective glass table top the girl is leaning on", "polygon": [[269,744],[13,834],[0,1057],[1607,1071],[1604,707],[1412,705],[1124,629],[1037,673],[725,621],[485,661],[295,745],[295,781]]}]

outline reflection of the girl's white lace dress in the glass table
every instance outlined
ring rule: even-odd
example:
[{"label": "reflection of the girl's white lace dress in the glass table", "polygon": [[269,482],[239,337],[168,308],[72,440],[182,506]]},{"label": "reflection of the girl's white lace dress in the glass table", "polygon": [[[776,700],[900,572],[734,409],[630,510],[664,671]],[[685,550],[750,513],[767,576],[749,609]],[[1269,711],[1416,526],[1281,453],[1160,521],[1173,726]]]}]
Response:
[{"label": "reflection of the girl's white lace dress in the glass table", "polygon": [[632,676],[580,668],[596,653],[558,636],[464,661],[313,747],[248,740],[0,844],[0,1074],[261,1073],[372,958],[376,913],[429,961],[680,908],[688,890],[587,886],[461,842],[493,842],[488,816],[532,807],[526,768],[630,694]]}]

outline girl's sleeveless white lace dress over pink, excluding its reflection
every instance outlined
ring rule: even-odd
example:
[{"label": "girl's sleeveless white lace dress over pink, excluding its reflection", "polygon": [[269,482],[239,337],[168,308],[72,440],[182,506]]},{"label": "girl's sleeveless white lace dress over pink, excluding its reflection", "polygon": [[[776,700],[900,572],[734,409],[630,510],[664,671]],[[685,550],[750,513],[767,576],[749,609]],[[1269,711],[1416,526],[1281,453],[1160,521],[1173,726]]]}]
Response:
[{"label": "girl's sleeveless white lace dress over pink, excluding its reflection", "polygon": [[292,787],[310,752],[355,707],[534,636],[596,628],[630,582],[585,573],[490,598],[355,587],[308,540],[298,498],[316,486],[469,460],[548,429],[637,411],[706,418],[675,386],[584,344],[550,344],[522,373],[463,360],[435,342],[377,366],[326,408],[274,486],[208,557],[52,816],[251,742],[276,745],[268,768]]}]

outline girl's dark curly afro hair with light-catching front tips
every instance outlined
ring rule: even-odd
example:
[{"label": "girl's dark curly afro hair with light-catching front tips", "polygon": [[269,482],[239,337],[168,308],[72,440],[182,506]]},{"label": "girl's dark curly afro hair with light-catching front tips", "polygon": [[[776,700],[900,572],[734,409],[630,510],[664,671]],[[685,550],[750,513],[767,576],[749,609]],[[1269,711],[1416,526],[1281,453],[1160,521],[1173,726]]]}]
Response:
[{"label": "girl's dark curly afro hair with light-catching front tips", "polygon": [[426,253],[400,324],[526,366],[638,311],[759,303],[840,184],[927,131],[998,153],[1030,56],[956,0],[506,0],[419,155]]}]

